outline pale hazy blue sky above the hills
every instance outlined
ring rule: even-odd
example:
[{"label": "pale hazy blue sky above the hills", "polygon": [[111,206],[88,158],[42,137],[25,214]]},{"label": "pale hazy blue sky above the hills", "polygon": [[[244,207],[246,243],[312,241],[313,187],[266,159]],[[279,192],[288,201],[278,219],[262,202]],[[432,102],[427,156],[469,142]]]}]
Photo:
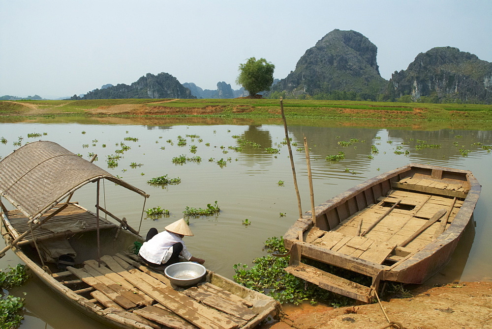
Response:
[{"label": "pale hazy blue sky above the hills", "polygon": [[368,37],[387,80],[433,47],[492,61],[491,0],[0,0],[0,96],[65,97],[160,72],[238,89],[246,58],[285,78],[335,28]]}]

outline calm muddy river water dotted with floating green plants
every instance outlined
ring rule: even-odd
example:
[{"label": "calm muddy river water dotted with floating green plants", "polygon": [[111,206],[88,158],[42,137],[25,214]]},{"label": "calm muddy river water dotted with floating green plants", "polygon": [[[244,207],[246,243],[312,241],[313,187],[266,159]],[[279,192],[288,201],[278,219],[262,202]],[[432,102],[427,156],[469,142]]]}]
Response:
[{"label": "calm muddy river water dotted with floating green plants", "polygon": [[[28,137],[28,134],[41,136]],[[32,135],[30,135],[32,136]],[[408,163],[436,164],[471,170],[482,184],[482,194],[469,225],[448,266],[434,277],[439,282],[492,280],[492,155],[483,145],[492,144],[492,132],[480,130],[408,128],[366,128],[334,124],[323,120],[296,120],[289,123],[303,211],[310,210],[307,165],[303,137],[310,147],[314,203],[319,204],[368,178]],[[253,258],[265,255],[263,242],[281,236],[298,217],[298,203],[284,128],[278,120],[219,119],[77,119],[53,118],[33,122],[0,123],[0,156],[7,156],[26,142],[50,140],[90,159],[113,175],[149,193],[145,209],[161,207],[169,217],[145,218],[141,234],[149,228],[163,230],[183,217],[186,207],[206,208],[217,201],[220,213],[191,218],[195,234],[185,237],[189,251],[206,260],[205,266],[232,278],[233,265],[251,265]],[[185,145],[178,145],[179,140]],[[126,138],[126,140],[125,140]],[[240,145],[240,138],[250,142]],[[15,143],[15,144],[14,144]],[[116,155],[122,143],[118,166],[108,168],[107,157]],[[183,143],[183,142],[182,142]],[[256,144],[260,148],[254,147]],[[439,145],[422,148],[421,145]],[[196,146],[196,153],[191,146]],[[237,147],[241,147],[241,149]],[[437,147],[437,146],[435,146]],[[266,148],[278,149],[277,154]],[[299,150],[298,150],[299,149]],[[375,153],[377,151],[377,153]],[[343,152],[345,159],[327,161],[327,155]],[[201,162],[173,164],[173,158],[200,157]],[[210,161],[209,161],[210,160]],[[219,165],[223,160],[226,164]],[[130,164],[137,164],[131,166]],[[152,186],[148,180],[168,175],[181,178],[178,185]],[[279,183],[283,181],[283,186]],[[140,195],[106,182],[105,208],[130,225],[140,225],[144,200]],[[88,184],[72,198],[94,210],[95,186]],[[243,225],[248,219],[250,225]],[[12,252],[0,259],[0,268],[20,261]],[[26,314],[21,328],[102,328],[52,295],[32,278],[11,294],[26,292]],[[5,291],[4,291],[5,293]]]}]

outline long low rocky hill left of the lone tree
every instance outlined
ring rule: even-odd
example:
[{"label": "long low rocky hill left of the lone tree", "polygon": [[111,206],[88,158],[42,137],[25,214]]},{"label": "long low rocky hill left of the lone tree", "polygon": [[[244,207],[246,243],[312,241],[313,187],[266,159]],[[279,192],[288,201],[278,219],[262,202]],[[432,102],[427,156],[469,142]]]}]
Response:
[{"label": "long low rocky hill left of the lone tree", "polygon": [[[115,98],[196,98],[175,77],[168,73],[156,76],[147,73],[130,85],[120,83],[115,86],[104,85],[94,89],[81,99],[115,99]],[[72,99],[80,99],[74,95]]]}]

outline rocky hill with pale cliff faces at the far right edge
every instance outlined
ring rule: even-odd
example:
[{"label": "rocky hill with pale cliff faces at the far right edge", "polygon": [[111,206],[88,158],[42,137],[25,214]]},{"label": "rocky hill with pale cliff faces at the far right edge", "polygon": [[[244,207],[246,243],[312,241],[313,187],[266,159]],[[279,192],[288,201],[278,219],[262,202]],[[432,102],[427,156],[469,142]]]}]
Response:
[{"label": "rocky hill with pale cliff faces at the far right edge", "polygon": [[432,103],[491,104],[492,63],[458,48],[432,48],[392,75],[386,98],[404,95]]}]

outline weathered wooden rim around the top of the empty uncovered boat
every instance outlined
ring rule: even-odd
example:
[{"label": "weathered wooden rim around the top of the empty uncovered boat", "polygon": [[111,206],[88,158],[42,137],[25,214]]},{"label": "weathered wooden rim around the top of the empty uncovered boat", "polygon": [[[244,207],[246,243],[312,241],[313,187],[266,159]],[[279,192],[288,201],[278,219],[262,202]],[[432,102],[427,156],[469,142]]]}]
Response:
[{"label": "weathered wooden rim around the top of the empty uncovered boat", "polygon": [[[406,171],[412,170],[412,167],[417,167],[417,168],[425,168],[425,169],[438,169],[438,170],[443,170],[443,171],[449,171],[449,172],[456,172],[456,173],[461,173],[461,174],[466,174],[466,178],[470,184],[470,190],[467,193],[466,198],[463,201],[463,204],[461,205],[460,210],[456,214],[455,218],[453,219],[452,223],[450,226],[443,232],[441,233],[436,239],[431,241],[429,244],[427,244],[425,247],[413,252],[410,257],[402,260],[400,263],[395,263],[391,266],[386,266],[386,265],[380,265],[380,264],[375,264],[370,261],[365,261],[363,259],[353,257],[350,255],[346,255],[342,252],[338,251],[333,251],[330,249],[326,249],[323,247],[318,247],[310,243],[306,242],[301,242],[298,240],[299,232],[306,232],[307,229],[310,227],[313,227],[313,221],[312,221],[312,212],[307,211],[305,215],[303,215],[302,218],[297,219],[295,223],[287,230],[287,232],[284,235],[284,242],[285,242],[285,247],[287,249],[290,249],[291,246],[296,243],[299,244],[300,246],[303,247],[303,255],[307,256],[306,252],[313,251],[313,250],[320,250],[323,251],[325,254],[332,255],[333,257],[338,257],[340,258],[340,261],[338,262],[333,262],[329,263],[334,266],[338,266],[341,268],[347,268],[346,262],[348,261],[350,263],[350,268],[349,270],[353,272],[357,272],[360,274],[365,274],[365,275],[375,275],[379,271],[383,270],[384,273],[384,279],[388,278],[396,278],[398,276],[398,273],[401,271],[404,271],[417,263],[421,262],[422,260],[426,258],[432,257],[436,252],[439,250],[447,247],[448,245],[452,244],[453,242],[457,241],[460,237],[461,234],[465,228],[465,226],[468,224],[472,214],[473,210],[475,208],[475,205],[478,201],[480,191],[481,191],[481,186],[478,183],[477,179],[475,176],[472,174],[471,171],[469,170],[462,170],[462,169],[455,169],[455,168],[448,168],[448,167],[442,167],[442,166],[436,166],[436,165],[427,165],[427,164],[407,164],[404,166],[401,166],[399,168],[387,171],[385,173],[382,173],[378,176],[375,176],[373,178],[369,178],[368,180],[354,186],[353,188],[350,188],[346,190],[345,192],[341,192],[331,199],[319,204],[314,208],[316,217],[322,216],[326,214],[328,211],[338,207],[341,204],[344,204],[347,202],[350,198],[355,197],[355,195],[364,192],[368,190],[369,188],[383,182],[390,180],[391,178],[404,173]],[[310,250],[309,250],[310,249]],[[308,256],[307,256],[308,257]],[[308,257],[310,258],[310,257]],[[343,266],[345,264],[345,266]],[[362,268],[359,268],[359,266],[353,266],[353,265],[360,265]]]}]

